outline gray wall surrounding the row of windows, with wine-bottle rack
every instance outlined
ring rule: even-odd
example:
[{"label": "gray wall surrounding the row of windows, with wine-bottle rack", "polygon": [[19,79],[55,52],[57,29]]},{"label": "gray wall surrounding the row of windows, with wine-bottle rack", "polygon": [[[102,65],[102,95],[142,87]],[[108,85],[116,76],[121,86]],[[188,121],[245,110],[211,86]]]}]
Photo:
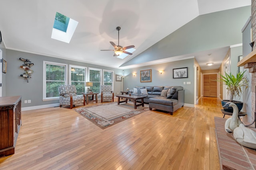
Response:
[{"label": "gray wall surrounding the row of windows, with wine-bottle rack", "polygon": [[[34,63],[34,66],[31,67],[31,69],[34,70],[34,72],[32,73],[32,78],[29,80],[28,83],[24,80],[24,78],[20,76],[20,74],[23,74],[23,70],[20,68],[23,62],[19,60],[20,57],[24,59],[29,59],[32,63]],[[6,56],[4,56],[4,59],[7,61],[7,73],[6,75],[4,75],[6,77],[3,77],[3,80],[5,79],[6,82],[5,84],[3,84],[3,92],[5,91],[5,95],[3,96],[22,96],[22,107],[41,106],[59,103],[59,100],[51,100],[44,102],[42,101],[43,61],[113,70],[114,92],[115,94],[117,94],[117,92],[120,92],[122,90],[121,88],[123,81],[115,81],[115,74],[123,73],[121,69],[99,66],[95,64],[81,63],[71,60],[64,60],[31,53],[24,53],[10,49],[6,49]],[[31,100],[31,103],[24,104],[24,100]]]}]

